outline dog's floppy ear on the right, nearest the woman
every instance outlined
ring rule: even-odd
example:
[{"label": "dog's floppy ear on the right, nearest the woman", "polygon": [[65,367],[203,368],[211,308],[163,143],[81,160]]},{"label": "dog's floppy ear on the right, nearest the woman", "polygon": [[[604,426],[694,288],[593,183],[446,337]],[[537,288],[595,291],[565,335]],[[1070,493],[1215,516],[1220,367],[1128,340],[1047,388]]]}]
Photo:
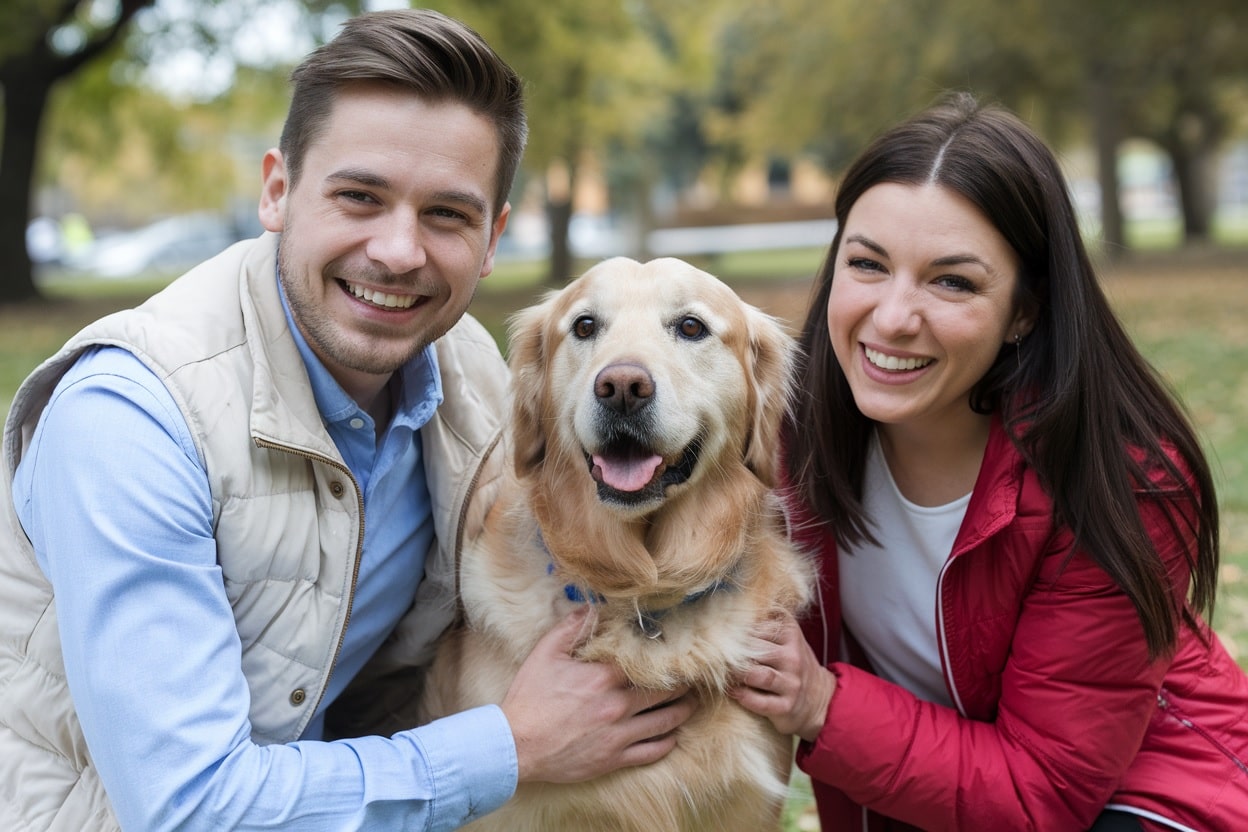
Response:
[{"label": "dog's floppy ear on the right, nearest the woman", "polygon": [[746,372],[754,385],[754,412],[745,464],[771,488],[779,475],[780,425],[789,407],[797,344],[776,318],[754,307],[746,312],[750,331]]}]

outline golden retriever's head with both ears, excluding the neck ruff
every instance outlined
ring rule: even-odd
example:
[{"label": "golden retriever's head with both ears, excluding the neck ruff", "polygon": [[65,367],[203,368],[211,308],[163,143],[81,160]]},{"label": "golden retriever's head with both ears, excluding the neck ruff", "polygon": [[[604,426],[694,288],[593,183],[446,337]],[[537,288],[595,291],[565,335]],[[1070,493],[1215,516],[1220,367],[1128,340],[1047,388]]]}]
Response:
[{"label": "golden retriever's head with both ears, excluding the neck ruff", "polygon": [[733,465],[774,484],[792,339],[706,272],[604,261],[518,313],[510,344],[520,476],[579,463],[624,515]]}]

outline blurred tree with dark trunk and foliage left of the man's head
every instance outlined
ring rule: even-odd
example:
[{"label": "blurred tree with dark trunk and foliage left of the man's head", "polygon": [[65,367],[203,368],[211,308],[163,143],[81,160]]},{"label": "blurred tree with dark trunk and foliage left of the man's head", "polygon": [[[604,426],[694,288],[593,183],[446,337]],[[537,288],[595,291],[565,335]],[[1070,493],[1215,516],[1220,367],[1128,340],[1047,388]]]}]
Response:
[{"label": "blurred tree with dark trunk and foliage left of the man's head", "polygon": [[[287,95],[273,74],[285,72],[290,50],[257,45],[267,36],[310,49],[362,7],[276,5],[290,12],[280,30],[266,0],[5,0],[0,302],[39,294],[26,228],[40,187],[71,191],[75,212],[107,200],[121,220],[236,196],[223,145],[248,123],[280,119]],[[270,27],[257,31],[263,21]],[[183,75],[196,67],[180,67],[176,56],[197,57],[197,85]],[[183,76],[181,89],[166,86],[170,74]]]}]

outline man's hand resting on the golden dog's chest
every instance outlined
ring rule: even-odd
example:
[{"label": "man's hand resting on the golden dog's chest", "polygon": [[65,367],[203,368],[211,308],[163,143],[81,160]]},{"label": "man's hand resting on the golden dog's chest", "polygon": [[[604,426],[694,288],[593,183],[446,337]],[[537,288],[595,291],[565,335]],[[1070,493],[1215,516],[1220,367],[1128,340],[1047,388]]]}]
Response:
[{"label": "man's hand resting on the golden dog's chest", "polygon": [[661,760],[694,712],[688,689],[641,690],[615,667],[574,659],[587,615],[580,607],[552,627],[503,699],[520,782],[570,783]]}]

